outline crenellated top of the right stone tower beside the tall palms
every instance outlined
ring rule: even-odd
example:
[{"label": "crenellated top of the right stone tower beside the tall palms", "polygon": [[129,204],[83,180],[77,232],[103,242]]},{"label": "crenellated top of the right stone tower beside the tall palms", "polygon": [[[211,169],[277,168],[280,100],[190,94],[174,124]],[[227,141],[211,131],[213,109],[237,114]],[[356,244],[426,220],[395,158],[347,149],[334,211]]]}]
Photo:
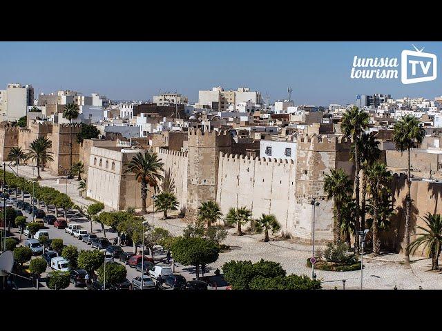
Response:
[{"label": "crenellated top of the right stone tower beside the tall palms", "polygon": [[352,144],[352,140],[343,135],[329,137],[325,134],[299,134],[296,142],[298,150],[318,151],[348,150]]}]

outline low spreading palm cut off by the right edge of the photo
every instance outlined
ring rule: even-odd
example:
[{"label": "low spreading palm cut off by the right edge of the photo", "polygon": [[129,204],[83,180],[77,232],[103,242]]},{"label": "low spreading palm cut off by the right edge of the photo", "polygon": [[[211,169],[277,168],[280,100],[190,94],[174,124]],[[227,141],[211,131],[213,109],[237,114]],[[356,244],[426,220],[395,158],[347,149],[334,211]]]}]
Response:
[{"label": "low spreading palm cut off by the right edge of the photo", "polygon": [[430,214],[430,212],[427,212],[425,217],[421,217],[421,219],[423,219],[427,226],[424,228],[417,225],[416,228],[423,230],[424,233],[414,234],[421,237],[408,245],[408,249],[414,253],[420,245],[424,245],[424,249],[427,249],[427,257],[432,257],[431,270],[438,270],[438,260],[442,247],[442,217],[441,214]]}]

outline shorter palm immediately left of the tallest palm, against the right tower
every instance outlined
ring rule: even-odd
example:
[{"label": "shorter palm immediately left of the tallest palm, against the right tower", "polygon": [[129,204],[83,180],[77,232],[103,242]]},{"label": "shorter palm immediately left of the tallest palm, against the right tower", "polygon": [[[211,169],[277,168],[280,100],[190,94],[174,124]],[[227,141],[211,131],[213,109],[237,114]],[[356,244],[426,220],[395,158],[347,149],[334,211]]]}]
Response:
[{"label": "shorter palm immediately left of the tallest palm, against the right tower", "polygon": [[327,199],[334,200],[334,242],[340,241],[340,226],[342,223],[343,203],[352,192],[352,180],[342,169],[331,169],[332,174],[326,174],[324,180],[324,192]]}]

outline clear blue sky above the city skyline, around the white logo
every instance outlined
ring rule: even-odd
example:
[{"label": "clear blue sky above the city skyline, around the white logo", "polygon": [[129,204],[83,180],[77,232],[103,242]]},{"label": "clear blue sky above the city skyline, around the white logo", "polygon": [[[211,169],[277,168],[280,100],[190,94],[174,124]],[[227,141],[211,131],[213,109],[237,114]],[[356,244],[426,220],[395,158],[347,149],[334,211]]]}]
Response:
[{"label": "clear blue sky above the city skyline, around the white logo", "polygon": [[[403,85],[398,79],[349,78],[354,55],[398,57],[413,50],[439,56],[436,81]],[[350,103],[356,94],[434,98],[442,94],[441,42],[0,42],[0,88],[30,83],[39,92],[59,88],[109,99],[151,99],[161,91],[186,94],[213,86],[268,93],[271,101]],[[400,74],[400,71],[399,71]]]}]

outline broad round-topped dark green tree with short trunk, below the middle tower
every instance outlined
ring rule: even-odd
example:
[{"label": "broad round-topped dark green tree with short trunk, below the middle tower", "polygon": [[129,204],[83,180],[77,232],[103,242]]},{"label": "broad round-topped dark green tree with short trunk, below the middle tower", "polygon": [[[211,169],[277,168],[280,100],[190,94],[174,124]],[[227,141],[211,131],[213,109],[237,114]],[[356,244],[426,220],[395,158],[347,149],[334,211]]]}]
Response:
[{"label": "broad round-topped dark green tree with short trunk, below the middle tower", "polygon": [[200,264],[213,263],[218,259],[218,246],[203,238],[177,237],[171,248],[173,260],[183,265],[194,265],[196,277],[200,277]]}]

